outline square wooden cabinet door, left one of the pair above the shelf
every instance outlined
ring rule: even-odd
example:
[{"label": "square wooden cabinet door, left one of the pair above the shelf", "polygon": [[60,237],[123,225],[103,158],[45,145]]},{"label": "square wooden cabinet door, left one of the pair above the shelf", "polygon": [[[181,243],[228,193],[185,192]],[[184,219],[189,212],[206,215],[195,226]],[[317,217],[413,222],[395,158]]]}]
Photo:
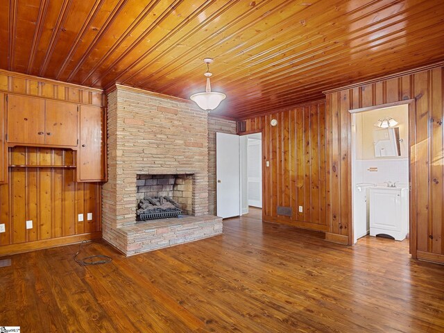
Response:
[{"label": "square wooden cabinet door, left one of the pair above the shelf", "polygon": [[44,144],[44,100],[8,95],[8,142]]}]

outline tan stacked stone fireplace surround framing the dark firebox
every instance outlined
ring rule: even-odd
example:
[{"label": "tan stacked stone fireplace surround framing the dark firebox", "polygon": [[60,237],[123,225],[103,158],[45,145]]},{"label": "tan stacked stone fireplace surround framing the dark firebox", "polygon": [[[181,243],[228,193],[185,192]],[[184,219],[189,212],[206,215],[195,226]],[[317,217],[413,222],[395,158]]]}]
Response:
[{"label": "tan stacked stone fireplace surround framing the dark firebox", "polygon": [[[137,175],[161,174],[193,175],[190,219],[202,216],[214,227],[219,218],[208,215],[207,112],[185,100],[116,85],[108,94],[108,182],[102,187],[102,216],[103,239],[123,253],[130,253],[133,231],[151,230],[135,225]],[[202,235],[207,237],[207,232]],[[151,249],[144,244],[137,248]]]}]

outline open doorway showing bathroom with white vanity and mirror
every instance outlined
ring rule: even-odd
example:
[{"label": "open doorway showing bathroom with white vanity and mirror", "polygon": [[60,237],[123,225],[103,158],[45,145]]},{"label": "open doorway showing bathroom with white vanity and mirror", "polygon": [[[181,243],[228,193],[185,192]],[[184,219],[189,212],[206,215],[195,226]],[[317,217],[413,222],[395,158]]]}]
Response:
[{"label": "open doorway showing bathroom with white vanity and mirror", "polygon": [[353,244],[409,252],[409,105],[352,112]]}]

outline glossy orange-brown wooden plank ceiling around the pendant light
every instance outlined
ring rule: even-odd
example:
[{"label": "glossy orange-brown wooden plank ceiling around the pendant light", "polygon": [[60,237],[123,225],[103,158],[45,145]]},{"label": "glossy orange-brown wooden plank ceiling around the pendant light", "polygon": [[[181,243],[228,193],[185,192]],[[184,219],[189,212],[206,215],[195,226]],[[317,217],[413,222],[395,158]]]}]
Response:
[{"label": "glossy orange-brown wooden plank ceiling around the pendant light", "polygon": [[444,59],[443,1],[0,0],[0,68],[188,99],[215,59],[237,119]]}]

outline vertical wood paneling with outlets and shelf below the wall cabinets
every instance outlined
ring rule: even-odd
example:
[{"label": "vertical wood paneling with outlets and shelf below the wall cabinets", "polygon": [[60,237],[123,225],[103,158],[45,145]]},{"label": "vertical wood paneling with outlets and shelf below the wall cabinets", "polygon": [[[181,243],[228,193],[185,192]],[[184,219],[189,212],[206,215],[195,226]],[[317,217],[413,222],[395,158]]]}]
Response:
[{"label": "vertical wood paneling with outlets and shelf below the wall cabinets", "polygon": [[[0,185],[0,223],[6,227],[0,246],[101,230],[101,184],[76,182],[74,158],[74,151],[63,149],[9,148],[10,164],[31,167],[9,167],[8,185]],[[32,229],[26,230],[27,220]]]}]

